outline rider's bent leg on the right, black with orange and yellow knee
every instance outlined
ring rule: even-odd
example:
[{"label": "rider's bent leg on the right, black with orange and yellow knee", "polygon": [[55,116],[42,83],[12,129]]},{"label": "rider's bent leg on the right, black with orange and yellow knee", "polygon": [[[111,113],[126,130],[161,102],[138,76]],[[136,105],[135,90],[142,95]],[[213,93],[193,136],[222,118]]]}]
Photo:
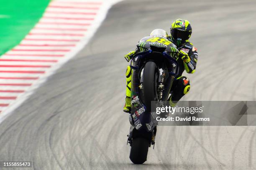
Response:
[{"label": "rider's bent leg on the right, black with orange and yellow knee", "polygon": [[185,76],[178,77],[177,79],[174,80],[173,82],[173,87],[172,87],[172,95],[170,97],[170,105],[174,107],[177,102],[189,92],[190,90],[190,83],[189,79]]}]

